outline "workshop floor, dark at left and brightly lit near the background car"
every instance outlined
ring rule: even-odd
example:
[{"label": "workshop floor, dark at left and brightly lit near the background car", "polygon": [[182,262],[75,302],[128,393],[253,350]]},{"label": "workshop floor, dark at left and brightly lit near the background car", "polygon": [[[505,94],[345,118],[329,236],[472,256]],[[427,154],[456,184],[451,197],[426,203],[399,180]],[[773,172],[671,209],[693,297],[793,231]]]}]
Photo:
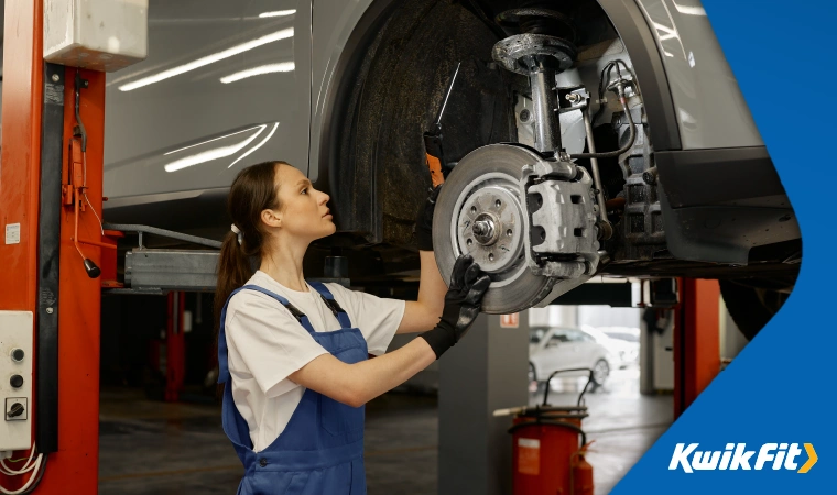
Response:
[{"label": "workshop floor, dark at left and brightly lit near the background car", "polygon": [[[586,396],[597,495],[609,493],[672,421],[671,396],[641,396],[638,377],[635,370],[615,372],[605,389]],[[553,386],[550,403],[576,397],[576,384],[564,381]],[[437,427],[435,397],[388,394],[371,403],[369,493],[435,494]],[[217,404],[163,404],[140,391],[102,391],[99,441],[101,495],[232,494],[242,473]]]}]

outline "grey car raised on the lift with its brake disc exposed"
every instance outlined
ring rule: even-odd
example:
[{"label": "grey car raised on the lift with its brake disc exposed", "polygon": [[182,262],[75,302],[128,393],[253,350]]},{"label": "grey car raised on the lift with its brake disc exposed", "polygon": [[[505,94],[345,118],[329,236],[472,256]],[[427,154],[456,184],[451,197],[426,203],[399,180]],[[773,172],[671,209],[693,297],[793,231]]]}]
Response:
[{"label": "grey car raised on the lift with its brake disc exposed", "polygon": [[283,160],[338,228],[306,273],[414,290],[433,147],[436,260],[477,258],[486,312],[717,278],[753,337],[794,286],[796,216],[698,0],[151,0],[149,30],[108,76],[108,222],[221,239],[235,175]]}]

